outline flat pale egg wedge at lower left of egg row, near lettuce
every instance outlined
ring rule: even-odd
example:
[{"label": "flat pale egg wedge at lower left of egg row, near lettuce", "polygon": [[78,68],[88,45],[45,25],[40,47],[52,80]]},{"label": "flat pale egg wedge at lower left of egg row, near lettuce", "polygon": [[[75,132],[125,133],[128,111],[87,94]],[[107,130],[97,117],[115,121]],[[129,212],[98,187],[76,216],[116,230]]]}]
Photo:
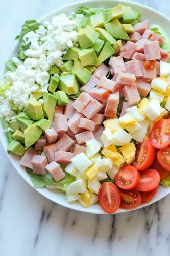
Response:
[{"label": "flat pale egg wedge at lower left of egg row, near lettuce", "polygon": [[72,182],[66,189],[66,193],[84,193],[87,189],[87,181],[80,179]]}]

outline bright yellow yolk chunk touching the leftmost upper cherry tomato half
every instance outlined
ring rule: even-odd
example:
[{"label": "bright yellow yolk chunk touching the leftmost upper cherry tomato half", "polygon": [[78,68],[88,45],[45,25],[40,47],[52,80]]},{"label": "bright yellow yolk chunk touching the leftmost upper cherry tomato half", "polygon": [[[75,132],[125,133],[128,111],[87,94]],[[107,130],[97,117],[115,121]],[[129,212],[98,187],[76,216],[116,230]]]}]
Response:
[{"label": "bright yellow yolk chunk touching the leftmost upper cherry tomato half", "polygon": [[[137,131],[136,131],[137,132]],[[127,164],[131,164],[135,158],[136,147],[133,142],[119,148]]]}]

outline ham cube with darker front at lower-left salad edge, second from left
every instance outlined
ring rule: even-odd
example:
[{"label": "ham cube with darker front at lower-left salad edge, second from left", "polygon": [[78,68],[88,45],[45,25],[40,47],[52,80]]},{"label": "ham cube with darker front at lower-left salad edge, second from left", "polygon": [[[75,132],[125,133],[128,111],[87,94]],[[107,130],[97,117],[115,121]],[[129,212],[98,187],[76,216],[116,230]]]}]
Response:
[{"label": "ham cube with darker front at lower-left salad edge, second from left", "polygon": [[34,155],[31,160],[31,165],[34,174],[46,174],[45,166],[48,164],[48,161],[45,156]]}]

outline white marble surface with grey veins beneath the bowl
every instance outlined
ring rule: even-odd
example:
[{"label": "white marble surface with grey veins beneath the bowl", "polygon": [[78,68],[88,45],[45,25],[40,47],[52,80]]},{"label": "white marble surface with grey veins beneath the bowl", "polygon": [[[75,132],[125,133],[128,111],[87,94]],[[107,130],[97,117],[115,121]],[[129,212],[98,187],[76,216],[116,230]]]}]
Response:
[{"label": "white marble surface with grey veins beneath the bowl", "polygon": [[[71,2],[1,1],[0,68],[26,19],[38,19]],[[134,2],[170,13],[169,0]],[[39,195],[16,173],[2,147],[0,159],[0,255],[170,255],[170,195],[129,214],[84,214]]]}]

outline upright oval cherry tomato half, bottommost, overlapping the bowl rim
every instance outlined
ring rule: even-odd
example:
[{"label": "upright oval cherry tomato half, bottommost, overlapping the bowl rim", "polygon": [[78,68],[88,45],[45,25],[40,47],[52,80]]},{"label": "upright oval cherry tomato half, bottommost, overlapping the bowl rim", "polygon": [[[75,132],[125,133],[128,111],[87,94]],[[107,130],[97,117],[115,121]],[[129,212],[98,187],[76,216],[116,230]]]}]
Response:
[{"label": "upright oval cherry tomato half, bottommost, overlapping the bowl rim", "polygon": [[118,188],[111,182],[104,182],[100,186],[98,199],[100,206],[108,214],[114,214],[120,206],[120,193]]}]

